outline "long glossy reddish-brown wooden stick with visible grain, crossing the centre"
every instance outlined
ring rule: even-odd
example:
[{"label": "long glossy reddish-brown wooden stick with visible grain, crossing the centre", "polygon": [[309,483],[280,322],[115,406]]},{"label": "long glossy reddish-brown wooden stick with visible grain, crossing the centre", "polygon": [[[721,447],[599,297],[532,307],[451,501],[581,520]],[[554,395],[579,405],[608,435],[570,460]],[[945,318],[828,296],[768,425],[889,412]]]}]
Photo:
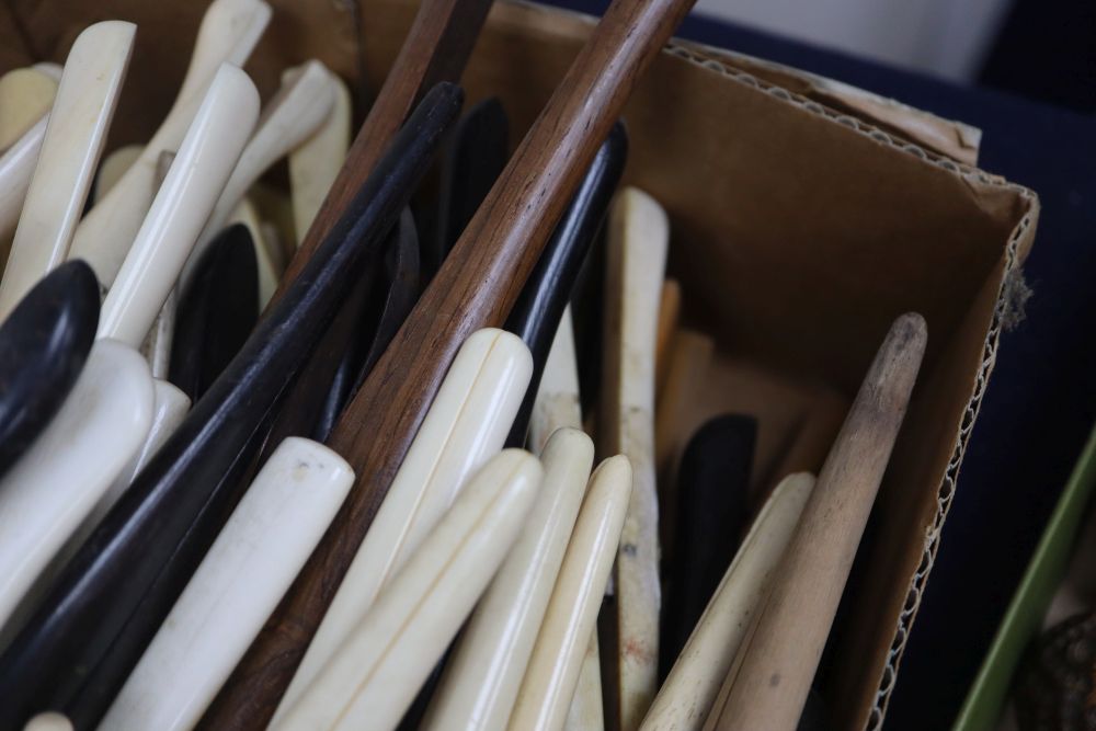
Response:
[{"label": "long glossy reddish-brown wooden stick with visible grain, crossing the centre", "polygon": [[[329,444],[359,478],[238,669],[218,728],[258,728],[274,712],[457,349],[476,330],[504,321],[639,73],[690,7],[690,0],[618,0],[606,11],[335,427]],[[404,46],[401,58],[407,53]],[[333,205],[329,198],[324,208]]]}]

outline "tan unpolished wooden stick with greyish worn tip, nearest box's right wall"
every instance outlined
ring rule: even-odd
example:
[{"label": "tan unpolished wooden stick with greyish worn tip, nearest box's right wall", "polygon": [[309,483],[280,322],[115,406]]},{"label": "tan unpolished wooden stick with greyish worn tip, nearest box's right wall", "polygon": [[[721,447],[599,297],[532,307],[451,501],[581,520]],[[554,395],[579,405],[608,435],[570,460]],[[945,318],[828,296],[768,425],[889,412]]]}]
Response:
[{"label": "tan unpolished wooden stick with greyish worn tip, nearest box's right wall", "polygon": [[920,315],[903,315],[891,325],[803,509],[757,628],[743,646],[716,729],[792,731],[799,722],[926,341]]}]

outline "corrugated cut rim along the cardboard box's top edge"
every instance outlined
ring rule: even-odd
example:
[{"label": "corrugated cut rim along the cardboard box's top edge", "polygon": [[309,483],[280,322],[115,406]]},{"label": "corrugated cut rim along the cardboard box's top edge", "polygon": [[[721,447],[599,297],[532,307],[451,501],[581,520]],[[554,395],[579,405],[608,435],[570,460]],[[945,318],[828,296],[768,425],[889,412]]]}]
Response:
[{"label": "corrugated cut rim along the cardboard box's top edge", "polygon": [[898,675],[902,653],[905,650],[905,643],[910,636],[910,629],[916,617],[925,583],[928,581],[928,574],[932,571],[937,550],[939,549],[940,532],[943,530],[944,521],[947,517],[948,510],[951,506],[951,500],[955,496],[959,468],[962,465],[962,459],[967,450],[967,444],[970,441],[971,431],[978,419],[978,413],[982,404],[982,398],[985,395],[985,388],[989,382],[990,375],[996,364],[1001,331],[1005,315],[1011,307],[1007,289],[1013,278],[1019,276],[1019,265],[1030,250],[1035,237],[1036,224],[1039,216],[1038,196],[1036,196],[1036,194],[1030,190],[1020,185],[1008,183],[1003,179],[991,175],[982,170],[979,170],[978,168],[962,164],[947,157],[927,151],[917,145],[895,138],[893,135],[890,135],[863,119],[847,114],[838,114],[817,101],[807,99],[800,94],[795,94],[775,84],[762,81],[750,73],[732,68],[705,54],[697,54],[694,50],[693,44],[687,42],[675,41],[664,49],[664,53],[678,56],[689,62],[697,64],[709,70],[727,76],[728,78],[740,83],[755,87],[776,96],[777,99],[796,104],[808,112],[824,116],[827,119],[850,127],[856,132],[870,137],[877,142],[889,145],[907,155],[913,155],[914,157],[933,162],[945,170],[963,178],[970,183],[1007,187],[1018,193],[1029,203],[1028,212],[1021,217],[1020,221],[1013,229],[1008,244],[1006,245],[1004,252],[1004,267],[1001,276],[1001,284],[997,289],[993,317],[983,343],[981,365],[975,376],[974,389],[967,401],[962,425],[956,436],[951,458],[948,462],[947,470],[945,471],[944,480],[937,491],[936,515],[925,534],[922,562],[910,581],[907,594],[909,598],[906,599],[905,606],[899,615],[895,624],[891,649],[888,654],[887,662],[879,673],[879,682],[877,684],[874,703],[871,703],[870,707],[867,708],[863,722],[858,723],[860,728],[874,731],[882,727],[883,719],[887,713],[887,706],[894,688],[894,678]]}]

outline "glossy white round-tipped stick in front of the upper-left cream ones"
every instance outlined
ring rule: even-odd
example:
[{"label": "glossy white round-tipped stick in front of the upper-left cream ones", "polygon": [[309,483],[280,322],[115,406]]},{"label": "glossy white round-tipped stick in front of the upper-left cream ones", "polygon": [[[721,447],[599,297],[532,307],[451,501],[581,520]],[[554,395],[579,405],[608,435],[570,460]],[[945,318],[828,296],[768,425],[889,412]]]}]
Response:
[{"label": "glossy white round-tipped stick in front of the upper-left cream ones", "polygon": [[251,79],[221,66],[103,301],[101,338],[140,345],[258,117],[259,92]]}]

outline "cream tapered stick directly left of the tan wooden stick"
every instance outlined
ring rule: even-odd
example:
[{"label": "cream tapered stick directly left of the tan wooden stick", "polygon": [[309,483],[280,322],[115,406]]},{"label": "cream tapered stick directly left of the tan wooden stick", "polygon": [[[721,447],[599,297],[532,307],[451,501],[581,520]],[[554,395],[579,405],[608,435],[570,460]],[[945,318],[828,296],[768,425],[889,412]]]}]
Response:
[{"label": "cream tapered stick directly left of the tan wooden stick", "polygon": [[785,478],[773,491],[659,689],[640,731],[681,731],[704,723],[813,487],[814,477],[800,472]]}]

